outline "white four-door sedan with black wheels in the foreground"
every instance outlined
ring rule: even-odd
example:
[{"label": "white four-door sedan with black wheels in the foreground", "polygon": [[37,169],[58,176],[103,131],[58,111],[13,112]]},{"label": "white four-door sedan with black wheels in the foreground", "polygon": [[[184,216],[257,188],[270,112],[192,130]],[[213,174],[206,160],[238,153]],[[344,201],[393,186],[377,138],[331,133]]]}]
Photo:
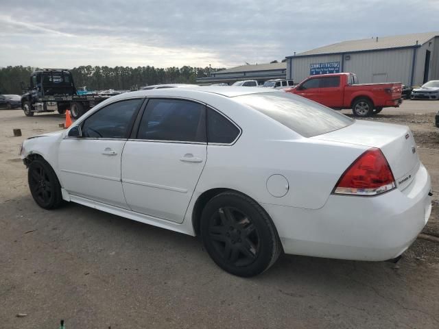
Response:
[{"label": "white four-door sedan with black wheels in the foreground", "polygon": [[200,234],[237,276],[281,252],[396,258],[431,212],[408,127],[261,88],[117,95],[68,130],[27,139],[21,157],[39,206],[76,202]]}]

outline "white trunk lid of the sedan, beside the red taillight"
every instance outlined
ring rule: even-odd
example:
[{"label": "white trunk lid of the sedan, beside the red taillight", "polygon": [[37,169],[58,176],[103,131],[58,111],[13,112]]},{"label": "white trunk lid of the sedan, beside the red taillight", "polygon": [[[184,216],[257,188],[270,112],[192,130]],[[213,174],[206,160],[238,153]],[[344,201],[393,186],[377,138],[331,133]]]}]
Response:
[{"label": "white trunk lid of the sedan, beside the red taillight", "polygon": [[410,185],[420,165],[413,134],[405,125],[356,120],[348,127],[311,138],[378,147],[389,162],[396,186],[401,190]]}]

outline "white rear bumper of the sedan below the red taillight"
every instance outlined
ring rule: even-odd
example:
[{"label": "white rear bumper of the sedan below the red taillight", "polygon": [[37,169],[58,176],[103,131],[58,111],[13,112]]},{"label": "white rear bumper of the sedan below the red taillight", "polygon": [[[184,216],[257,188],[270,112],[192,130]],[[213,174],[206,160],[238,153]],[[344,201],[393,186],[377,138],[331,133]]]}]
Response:
[{"label": "white rear bumper of the sedan below the red taillight", "polygon": [[412,183],[377,197],[331,195],[320,209],[263,204],[287,254],[388,260],[407,249],[431,212],[429,174],[421,164]]}]

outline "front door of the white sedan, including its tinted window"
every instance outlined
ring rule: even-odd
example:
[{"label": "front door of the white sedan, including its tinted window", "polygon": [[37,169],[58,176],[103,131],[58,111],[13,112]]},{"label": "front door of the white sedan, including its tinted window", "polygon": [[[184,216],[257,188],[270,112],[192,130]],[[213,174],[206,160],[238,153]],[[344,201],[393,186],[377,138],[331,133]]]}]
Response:
[{"label": "front door of the white sedan, including its tinted window", "polygon": [[71,196],[128,208],[121,184],[121,156],[144,100],[111,103],[84,119],[81,137],[62,140],[60,178]]}]

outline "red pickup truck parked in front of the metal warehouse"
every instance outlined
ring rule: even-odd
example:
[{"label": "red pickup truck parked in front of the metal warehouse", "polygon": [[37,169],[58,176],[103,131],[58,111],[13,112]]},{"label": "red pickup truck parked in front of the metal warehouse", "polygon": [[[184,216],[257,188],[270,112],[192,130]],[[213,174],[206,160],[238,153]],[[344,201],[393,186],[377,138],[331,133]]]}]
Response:
[{"label": "red pickup truck parked in front of the metal warehouse", "polygon": [[357,75],[353,73],[312,75],[297,86],[283,90],[335,110],[352,108],[357,117],[369,117],[383,108],[397,108],[402,103],[401,83],[358,84]]}]

